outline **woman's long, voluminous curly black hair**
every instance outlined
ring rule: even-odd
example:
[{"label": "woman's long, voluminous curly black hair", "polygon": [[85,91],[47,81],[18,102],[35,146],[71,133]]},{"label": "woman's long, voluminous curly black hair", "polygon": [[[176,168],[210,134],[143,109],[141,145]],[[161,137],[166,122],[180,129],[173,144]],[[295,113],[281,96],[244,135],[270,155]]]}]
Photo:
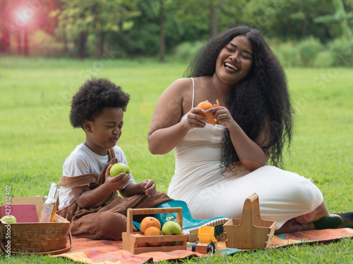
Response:
[{"label": "woman's long, voluminous curly black hair", "polygon": [[[234,120],[246,134],[256,139],[265,127],[265,115],[270,116],[270,162],[283,165],[282,149],[292,139],[293,108],[289,100],[287,77],[275,54],[263,39],[261,32],[246,25],[229,27],[203,46],[186,69],[185,77],[212,76],[218,54],[234,37],[244,36],[252,44],[253,65],[249,74],[234,85],[226,96],[226,104]],[[229,131],[225,130],[222,146],[222,165],[229,168],[239,161]]]}]

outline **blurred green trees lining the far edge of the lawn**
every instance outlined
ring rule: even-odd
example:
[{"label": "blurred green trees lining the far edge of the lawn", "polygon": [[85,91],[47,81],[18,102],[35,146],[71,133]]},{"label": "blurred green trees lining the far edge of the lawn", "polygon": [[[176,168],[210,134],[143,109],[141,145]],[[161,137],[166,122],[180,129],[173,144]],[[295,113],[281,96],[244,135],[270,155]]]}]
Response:
[{"label": "blurred green trees lining the far edge of the lawn", "polygon": [[[30,46],[30,54],[36,55],[42,51],[41,56],[100,58],[105,47],[113,47],[119,50],[116,56],[119,58],[159,55],[160,0],[52,1],[56,8],[56,24],[51,37],[58,43]],[[1,4],[7,3],[8,6],[12,2],[1,0]],[[267,39],[278,39],[280,42],[299,42],[313,36],[324,44],[341,37],[340,23],[313,22],[314,18],[325,15],[334,17],[335,21],[340,20],[352,30],[352,0],[342,0],[344,10],[341,8],[342,11],[335,15],[330,15],[334,11],[332,0],[163,0],[162,3],[165,51],[168,55],[177,51],[177,46],[183,46],[183,42],[207,41],[211,28],[222,32],[236,24],[256,27]],[[1,17],[5,18],[10,13],[8,6],[1,6]],[[43,6],[49,8],[49,4]],[[44,11],[47,10],[43,8],[42,11],[46,13]],[[345,20],[342,20],[342,15],[345,15]],[[44,24],[47,26],[49,22]],[[4,32],[4,27],[4,21],[0,20],[0,32]],[[45,31],[47,27],[42,25],[41,29]],[[64,39],[68,41],[68,51],[59,48],[64,47]],[[1,52],[15,54],[16,48],[0,39]],[[283,57],[285,65],[298,65],[301,59],[295,61],[297,58],[288,54],[291,52],[290,46],[281,49],[277,50],[277,54],[279,58]],[[306,61],[305,56],[303,63],[317,65],[313,61]]]}]

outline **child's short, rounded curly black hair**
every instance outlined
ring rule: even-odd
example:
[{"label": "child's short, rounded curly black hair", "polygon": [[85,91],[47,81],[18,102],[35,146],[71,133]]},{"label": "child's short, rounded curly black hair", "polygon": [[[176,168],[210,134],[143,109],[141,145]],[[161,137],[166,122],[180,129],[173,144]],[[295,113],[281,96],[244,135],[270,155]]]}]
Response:
[{"label": "child's short, rounded curly black hair", "polygon": [[85,120],[94,121],[104,108],[119,107],[126,111],[130,95],[113,82],[100,78],[87,80],[73,96],[70,122],[73,127],[83,128]]}]

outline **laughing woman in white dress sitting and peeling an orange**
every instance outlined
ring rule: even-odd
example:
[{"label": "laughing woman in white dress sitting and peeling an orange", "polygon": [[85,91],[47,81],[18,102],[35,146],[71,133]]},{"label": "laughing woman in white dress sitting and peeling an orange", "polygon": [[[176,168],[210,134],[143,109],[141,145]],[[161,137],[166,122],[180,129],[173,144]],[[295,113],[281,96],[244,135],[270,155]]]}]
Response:
[{"label": "laughing woman in white dress sitting and peeling an orange", "polygon": [[[232,27],[211,39],[187,75],[162,93],[148,132],[151,153],[175,148],[172,199],[186,201],[195,218],[241,218],[257,193],[261,218],[277,221],[277,233],[340,227],[311,180],[265,165],[282,163],[292,107],[284,70],[258,30]],[[208,111],[196,107],[217,99]],[[198,113],[213,113],[217,125]]]}]

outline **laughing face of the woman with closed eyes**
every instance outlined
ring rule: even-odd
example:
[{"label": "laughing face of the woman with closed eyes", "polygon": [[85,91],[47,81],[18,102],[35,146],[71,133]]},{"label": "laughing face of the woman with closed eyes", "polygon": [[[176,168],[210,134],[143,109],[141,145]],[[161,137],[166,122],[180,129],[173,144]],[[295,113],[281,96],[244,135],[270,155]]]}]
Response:
[{"label": "laughing face of the woman with closed eyes", "polygon": [[248,75],[253,65],[253,49],[249,39],[234,37],[218,54],[216,61],[217,77],[228,85],[234,85]]}]

